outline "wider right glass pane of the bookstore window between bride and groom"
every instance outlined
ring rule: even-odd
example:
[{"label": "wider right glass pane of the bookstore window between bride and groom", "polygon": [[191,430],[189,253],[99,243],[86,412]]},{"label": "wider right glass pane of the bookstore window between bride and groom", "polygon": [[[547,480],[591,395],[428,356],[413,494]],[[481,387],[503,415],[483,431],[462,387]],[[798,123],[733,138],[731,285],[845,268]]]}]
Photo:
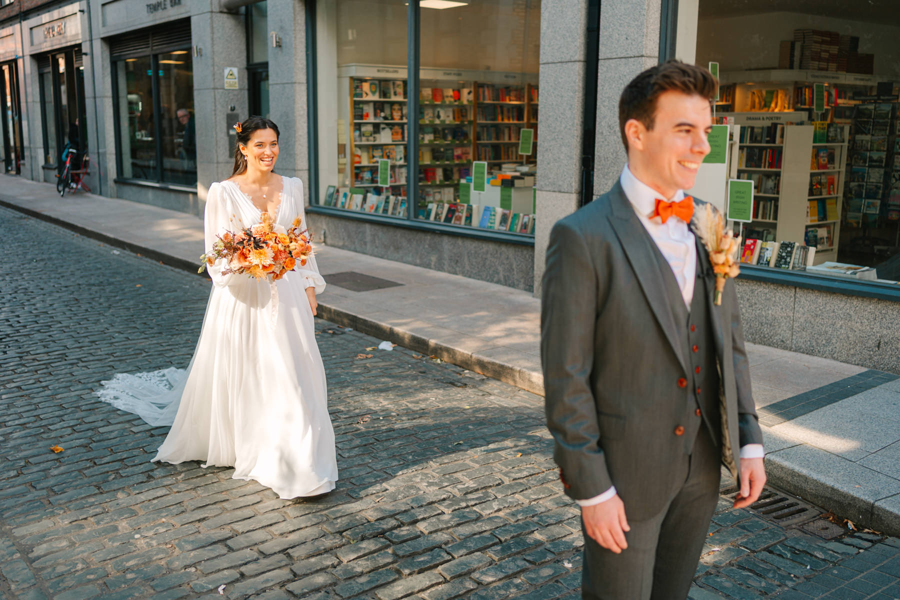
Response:
[{"label": "wider right glass pane of the bookstore window between bride and groom", "polygon": [[416,218],[533,233],[540,0],[423,6],[420,19]]}]

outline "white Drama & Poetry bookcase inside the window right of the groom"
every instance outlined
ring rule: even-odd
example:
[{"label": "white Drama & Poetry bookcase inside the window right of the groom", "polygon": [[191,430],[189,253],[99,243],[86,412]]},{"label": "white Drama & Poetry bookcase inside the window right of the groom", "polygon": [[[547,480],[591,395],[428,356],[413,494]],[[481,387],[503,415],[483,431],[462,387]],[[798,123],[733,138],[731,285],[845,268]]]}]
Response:
[{"label": "white Drama & Poetry bookcase inside the window right of the groom", "polygon": [[814,125],[789,121],[803,122],[802,113],[772,115],[774,122],[759,121],[753,112],[726,116],[742,126],[737,176],[754,182],[745,237],[806,244],[815,228],[814,264],[837,260],[849,126],[831,124],[818,141]]}]

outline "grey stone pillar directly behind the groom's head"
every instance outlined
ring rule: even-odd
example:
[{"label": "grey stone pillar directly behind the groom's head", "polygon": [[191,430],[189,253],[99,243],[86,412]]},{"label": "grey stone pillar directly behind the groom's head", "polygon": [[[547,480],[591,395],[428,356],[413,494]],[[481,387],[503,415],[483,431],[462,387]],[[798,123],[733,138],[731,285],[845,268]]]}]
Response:
[{"label": "grey stone pillar directly behind the groom's head", "polygon": [[606,193],[626,164],[618,99],[638,73],[660,59],[661,0],[600,0],[594,195]]}]

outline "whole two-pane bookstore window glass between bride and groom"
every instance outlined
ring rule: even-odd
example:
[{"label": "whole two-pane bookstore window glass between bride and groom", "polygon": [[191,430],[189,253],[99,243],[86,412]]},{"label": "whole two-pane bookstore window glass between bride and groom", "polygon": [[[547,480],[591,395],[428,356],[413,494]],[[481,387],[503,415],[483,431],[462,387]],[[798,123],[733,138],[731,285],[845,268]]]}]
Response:
[{"label": "whole two-pane bookstore window glass between bride and groom", "polygon": [[320,205],[533,235],[539,0],[420,2],[417,90],[405,2],[317,7],[318,83],[339,99],[320,90]]}]

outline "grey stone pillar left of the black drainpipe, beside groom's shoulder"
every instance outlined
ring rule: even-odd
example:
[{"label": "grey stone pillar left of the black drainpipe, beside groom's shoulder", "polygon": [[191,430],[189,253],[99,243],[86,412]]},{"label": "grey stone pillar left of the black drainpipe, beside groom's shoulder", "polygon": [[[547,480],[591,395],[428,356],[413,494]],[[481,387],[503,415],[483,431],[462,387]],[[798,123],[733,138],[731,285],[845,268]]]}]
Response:
[{"label": "grey stone pillar left of the black drainpipe, beside groom's shoulder", "polygon": [[537,130],[535,295],[550,229],[578,209],[584,123],[587,0],[541,3],[540,121]]}]

